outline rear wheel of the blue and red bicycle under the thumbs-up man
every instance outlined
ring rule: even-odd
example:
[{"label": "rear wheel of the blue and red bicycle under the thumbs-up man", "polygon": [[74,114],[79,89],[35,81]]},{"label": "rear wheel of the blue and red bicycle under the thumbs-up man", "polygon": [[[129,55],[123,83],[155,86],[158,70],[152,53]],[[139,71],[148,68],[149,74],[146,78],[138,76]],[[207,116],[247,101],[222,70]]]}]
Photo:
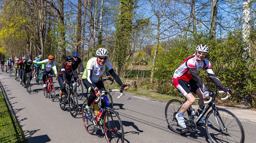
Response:
[{"label": "rear wheel of the blue and red bicycle under the thumbs-up man", "polygon": [[[83,106],[82,106],[82,117],[83,117],[83,125],[84,128],[86,129],[87,133],[93,134],[94,133],[94,124],[92,119],[89,120],[86,118],[86,105],[87,105],[88,100],[84,100]],[[92,107],[92,105],[91,105]],[[92,112],[92,115],[95,116],[94,112]]]}]

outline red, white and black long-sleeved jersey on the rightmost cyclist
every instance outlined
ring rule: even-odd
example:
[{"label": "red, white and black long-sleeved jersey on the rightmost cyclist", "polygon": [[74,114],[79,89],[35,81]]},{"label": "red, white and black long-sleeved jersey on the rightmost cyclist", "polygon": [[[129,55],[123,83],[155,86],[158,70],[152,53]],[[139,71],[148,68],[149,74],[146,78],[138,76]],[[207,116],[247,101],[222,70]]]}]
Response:
[{"label": "red, white and black long-sleeved jersey on the rightmost cyclist", "polygon": [[[196,79],[199,88],[204,92],[207,90],[202,79],[199,77],[198,71],[206,69],[211,80],[223,90],[225,87],[220,82],[219,78],[214,74],[210,62],[204,58],[202,61],[197,61],[196,54],[187,57],[182,64],[175,70],[173,78],[190,81],[192,78]],[[176,86],[175,86],[176,87]]]}]

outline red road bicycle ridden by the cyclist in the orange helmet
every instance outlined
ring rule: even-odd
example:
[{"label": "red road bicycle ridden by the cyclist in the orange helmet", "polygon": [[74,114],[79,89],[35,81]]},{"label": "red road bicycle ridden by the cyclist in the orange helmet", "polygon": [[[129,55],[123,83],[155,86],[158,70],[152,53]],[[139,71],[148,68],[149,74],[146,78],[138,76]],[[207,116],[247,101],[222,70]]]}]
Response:
[{"label": "red road bicycle ridden by the cyclist in the orange helmet", "polygon": [[51,101],[54,101],[55,99],[55,88],[54,88],[54,83],[52,79],[53,75],[51,76],[46,76],[46,87],[43,88],[44,90],[44,96],[47,97],[47,95],[50,96]]}]

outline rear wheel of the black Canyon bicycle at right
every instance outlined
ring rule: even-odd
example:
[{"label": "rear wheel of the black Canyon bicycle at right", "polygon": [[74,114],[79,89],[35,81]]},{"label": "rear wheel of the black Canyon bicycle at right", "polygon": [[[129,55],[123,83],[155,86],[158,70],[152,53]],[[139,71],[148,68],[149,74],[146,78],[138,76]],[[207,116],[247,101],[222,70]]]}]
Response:
[{"label": "rear wheel of the black Canyon bicycle at right", "polygon": [[[178,99],[170,100],[165,106],[165,119],[170,127],[170,129],[177,134],[185,134],[188,129],[184,129],[179,126],[175,115],[179,113],[178,109],[180,108],[182,101]],[[184,120],[188,119],[189,112],[184,113]]]}]

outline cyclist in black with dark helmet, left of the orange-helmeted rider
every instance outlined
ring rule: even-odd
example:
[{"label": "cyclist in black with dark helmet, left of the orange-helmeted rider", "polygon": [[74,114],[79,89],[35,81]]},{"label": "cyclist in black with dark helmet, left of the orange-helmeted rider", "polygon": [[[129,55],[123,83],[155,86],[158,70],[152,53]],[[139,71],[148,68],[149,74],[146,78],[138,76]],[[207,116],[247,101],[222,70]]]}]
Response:
[{"label": "cyclist in black with dark helmet, left of the orange-helmeted rider", "polygon": [[[32,63],[33,63],[33,61],[31,59],[32,59],[32,56],[28,55],[28,59],[26,59],[26,60],[24,59],[23,62],[17,64],[17,65],[23,65],[23,67],[24,67],[22,69],[22,77],[23,77],[24,88],[27,88],[25,74],[29,75],[29,80],[30,81],[32,79]],[[22,84],[22,82],[21,82],[21,84]]]}]

